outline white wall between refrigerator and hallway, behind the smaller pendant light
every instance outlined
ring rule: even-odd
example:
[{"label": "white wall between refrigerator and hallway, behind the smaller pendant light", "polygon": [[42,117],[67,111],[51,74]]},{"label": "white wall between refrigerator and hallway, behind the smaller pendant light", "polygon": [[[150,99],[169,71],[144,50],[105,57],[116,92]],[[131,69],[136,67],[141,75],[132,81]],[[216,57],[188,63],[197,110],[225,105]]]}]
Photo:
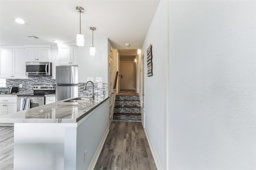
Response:
[{"label": "white wall between refrigerator and hallway, behind the smaller pendant light", "polygon": [[103,83],[108,83],[108,38],[95,38],[95,56],[90,55],[92,39],[86,38],[84,46],[78,47],[78,82],[84,83],[87,77],[102,77]]}]

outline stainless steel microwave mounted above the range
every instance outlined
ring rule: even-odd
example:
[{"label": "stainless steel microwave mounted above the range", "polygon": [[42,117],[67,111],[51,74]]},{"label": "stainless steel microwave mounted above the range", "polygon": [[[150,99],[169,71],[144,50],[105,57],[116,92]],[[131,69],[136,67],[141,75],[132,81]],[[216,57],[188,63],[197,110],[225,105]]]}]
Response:
[{"label": "stainless steel microwave mounted above the range", "polygon": [[26,75],[52,75],[52,63],[26,62]]}]

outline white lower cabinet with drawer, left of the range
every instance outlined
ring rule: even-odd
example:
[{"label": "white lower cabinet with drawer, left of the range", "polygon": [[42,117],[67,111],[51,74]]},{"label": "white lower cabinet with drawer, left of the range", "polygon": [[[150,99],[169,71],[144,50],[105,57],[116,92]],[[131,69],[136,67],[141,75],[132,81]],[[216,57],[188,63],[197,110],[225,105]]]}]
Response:
[{"label": "white lower cabinet with drawer, left of the range", "polygon": [[17,111],[17,97],[0,96],[0,116],[15,113]]}]

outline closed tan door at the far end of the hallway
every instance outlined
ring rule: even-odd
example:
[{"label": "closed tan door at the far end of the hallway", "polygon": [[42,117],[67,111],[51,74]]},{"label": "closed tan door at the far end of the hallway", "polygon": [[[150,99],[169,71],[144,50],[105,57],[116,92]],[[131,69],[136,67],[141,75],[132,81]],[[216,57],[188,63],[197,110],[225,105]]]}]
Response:
[{"label": "closed tan door at the far end of the hallway", "polygon": [[134,89],[134,62],[120,62],[121,89]]}]

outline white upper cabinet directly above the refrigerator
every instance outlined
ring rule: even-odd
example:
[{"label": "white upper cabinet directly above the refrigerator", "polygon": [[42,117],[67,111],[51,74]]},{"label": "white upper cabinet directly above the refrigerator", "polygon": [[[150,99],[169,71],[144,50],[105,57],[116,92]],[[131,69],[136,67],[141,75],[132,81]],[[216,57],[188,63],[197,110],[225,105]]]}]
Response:
[{"label": "white upper cabinet directly above the refrigerator", "polygon": [[59,46],[59,65],[78,65],[77,46]]}]

